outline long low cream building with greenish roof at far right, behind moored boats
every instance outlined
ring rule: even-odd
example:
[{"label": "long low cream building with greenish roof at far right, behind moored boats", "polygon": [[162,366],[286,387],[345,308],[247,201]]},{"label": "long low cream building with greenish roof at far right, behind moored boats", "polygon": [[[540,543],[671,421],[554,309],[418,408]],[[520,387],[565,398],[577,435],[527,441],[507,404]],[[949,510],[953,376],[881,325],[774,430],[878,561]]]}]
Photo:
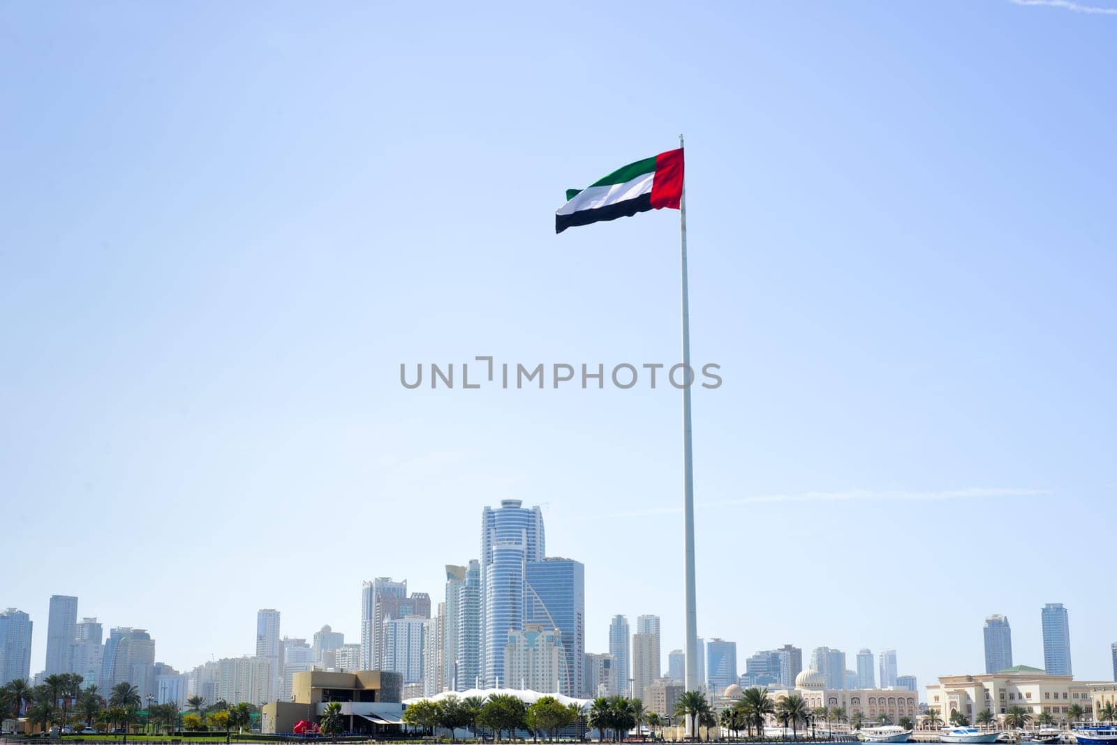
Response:
[{"label": "long low cream building with greenish roof at far right, behind moored boats", "polygon": [[[1070,707],[1078,704],[1087,716],[1094,716],[1094,687],[1105,686],[1090,681],[1076,681],[1069,675],[1048,675],[1027,665],[990,675],[951,675],[927,686],[927,706],[938,710],[945,722],[951,714],[961,712],[971,723],[984,709],[991,710],[997,722],[1013,706],[1021,706],[1035,715],[1047,712],[1057,722],[1068,718]],[[1104,696],[1105,691],[1099,691]]]}]

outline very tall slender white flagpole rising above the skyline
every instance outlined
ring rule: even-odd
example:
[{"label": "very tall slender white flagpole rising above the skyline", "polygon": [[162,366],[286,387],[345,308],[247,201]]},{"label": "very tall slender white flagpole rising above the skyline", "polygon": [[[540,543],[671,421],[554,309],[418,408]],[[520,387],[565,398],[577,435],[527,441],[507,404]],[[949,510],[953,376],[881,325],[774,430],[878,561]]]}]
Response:
[{"label": "very tall slender white flagpole rising above the skyline", "polygon": [[[679,148],[682,148],[682,135],[679,135]],[[690,303],[687,291],[687,186],[686,186],[686,155],[684,153],[684,182],[682,194],[679,200],[679,230],[682,238],[681,264],[682,264],[682,365],[684,375],[690,370]],[[686,689],[699,690],[701,681],[698,679],[698,611],[695,601],[695,483],[694,463],[690,451],[690,383],[696,376],[691,375],[687,385],[682,388],[682,515],[684,515],[684,551],[686,554],[686,602],[687,602],[687,648],[686,648]]]}]

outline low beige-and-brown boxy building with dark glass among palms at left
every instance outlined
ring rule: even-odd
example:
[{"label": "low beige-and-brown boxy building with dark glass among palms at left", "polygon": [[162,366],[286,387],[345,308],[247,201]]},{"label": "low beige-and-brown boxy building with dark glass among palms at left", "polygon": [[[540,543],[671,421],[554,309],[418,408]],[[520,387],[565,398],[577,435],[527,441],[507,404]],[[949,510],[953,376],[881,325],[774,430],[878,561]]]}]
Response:
[{"label": "low beige-and-brown boxy building with dark glass among palms at left", "polygon": [[296,673],[292,676],[293,700],[266,704],[261,709],[260,732],[289,734],[300,719],[318,723],[326,705],[337,702],[346,717],[347,732],[394,733],[403,716],[402,687],[403,676],[399,673]]}]

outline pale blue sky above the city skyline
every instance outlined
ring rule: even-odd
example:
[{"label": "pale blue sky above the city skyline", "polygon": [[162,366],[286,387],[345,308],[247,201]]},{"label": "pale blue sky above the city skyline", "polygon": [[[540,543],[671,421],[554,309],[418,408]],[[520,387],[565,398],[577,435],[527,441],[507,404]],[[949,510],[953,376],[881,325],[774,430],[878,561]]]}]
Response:
[{"label": "pale blue sky above the city skyline", "polygon": [[[1117,10],[1092,3],[0,9],[0,607],[180,668],[441,594],[543,504],[681,646],[679,395],[399,365],[672,362],[678,214],[553,233],[687,135],[699,632],[1110,675]],[[190,602],[180,603],[180,600]]]}]

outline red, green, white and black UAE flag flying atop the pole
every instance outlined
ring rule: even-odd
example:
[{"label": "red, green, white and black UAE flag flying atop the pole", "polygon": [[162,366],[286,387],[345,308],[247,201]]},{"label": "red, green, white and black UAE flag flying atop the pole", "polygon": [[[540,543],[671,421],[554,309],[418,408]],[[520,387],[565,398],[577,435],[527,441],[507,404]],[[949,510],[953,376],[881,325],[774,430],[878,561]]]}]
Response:
[{"label": "red, green, white and black UAE flag flying atop the pole", "polygon": [[582,190],[566,191],[555,212],[555,232],[574,225],[629,217],[648,210],[679,209],[682,199],[682,148],[630,163]]}]

